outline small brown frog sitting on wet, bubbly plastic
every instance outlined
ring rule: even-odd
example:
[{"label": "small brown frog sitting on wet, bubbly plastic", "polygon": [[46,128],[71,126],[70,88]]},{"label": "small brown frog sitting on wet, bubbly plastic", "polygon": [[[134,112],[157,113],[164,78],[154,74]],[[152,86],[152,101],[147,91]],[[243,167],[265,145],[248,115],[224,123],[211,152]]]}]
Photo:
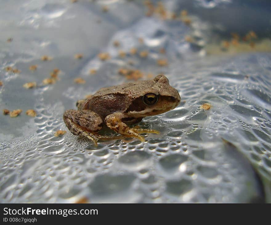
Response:
[{"label": "small brown frog sitting on wet, bubbly plastic", "polygon": [[[99,89],[87,99],[78,100],[78,110],[64,112],[63,120],[74,135],[86,137],[97,146],[98,140],[137,138],[140,134],[156,133],[153,129],[141,129],[130,125],[144,117],[159,115],[172,110],[180,103],[179,92],[170,86],[163,74],[151,80],[138,80],[127,84]],[[108,127],[120,136],[103,136],[99,132]]]}]

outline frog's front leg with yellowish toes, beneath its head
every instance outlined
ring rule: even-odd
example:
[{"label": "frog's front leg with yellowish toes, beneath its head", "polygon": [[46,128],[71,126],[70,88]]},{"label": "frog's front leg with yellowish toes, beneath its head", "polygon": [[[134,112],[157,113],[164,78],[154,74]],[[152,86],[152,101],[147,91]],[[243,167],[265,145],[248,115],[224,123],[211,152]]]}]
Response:
[{"label": "frog's front leg with yellowish toes, beneath its head", "polygon": [[145,139],[144,137],[140,136],[139,133],[157,133],[155,130],[129,128],[123,122],[127,121],[127,119],[129,119],[127,114],[122,112],[115,112],[105,117],[105,123],[115,132],[120,133],[125,137],[136,137],[142,142],[144,142]]}]

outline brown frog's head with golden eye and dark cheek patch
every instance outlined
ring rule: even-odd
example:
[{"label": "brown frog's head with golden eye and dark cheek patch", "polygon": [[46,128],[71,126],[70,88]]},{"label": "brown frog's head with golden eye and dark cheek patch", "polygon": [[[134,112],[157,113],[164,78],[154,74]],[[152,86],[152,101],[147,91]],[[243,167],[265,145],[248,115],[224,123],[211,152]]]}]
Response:
[{"label": "brown frog's head with golden eye and dark cheek patch", "polygon": [[158,75],[153,80],[142,81],[138,96],[126,110],[132,117],[148,117],[167,112],[180,103],[179,92],[169,85],[168,78]]}]

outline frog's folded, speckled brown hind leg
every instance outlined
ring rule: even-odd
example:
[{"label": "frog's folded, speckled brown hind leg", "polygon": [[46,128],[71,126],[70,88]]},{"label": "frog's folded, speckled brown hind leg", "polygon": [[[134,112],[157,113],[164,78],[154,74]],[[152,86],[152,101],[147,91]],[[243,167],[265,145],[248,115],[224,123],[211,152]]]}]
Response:
[{"label": "frog's folded, speckled brown hind leg", "polygon": [[63,114],[63,120],[67,128],[74,135],[87,137],[97,145],[95,134],[102,129],[103,120],[99,115],[91,110],[74,110],[69,109]]}]

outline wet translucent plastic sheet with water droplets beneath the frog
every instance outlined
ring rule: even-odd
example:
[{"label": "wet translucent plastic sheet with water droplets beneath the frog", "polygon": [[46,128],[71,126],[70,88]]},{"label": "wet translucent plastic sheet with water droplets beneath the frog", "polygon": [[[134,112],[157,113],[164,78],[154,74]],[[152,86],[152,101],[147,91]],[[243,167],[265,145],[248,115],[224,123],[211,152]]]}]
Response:
[{"label": "wet translucent plastic sheet with water droplets beneath the frog", "polygon": [[[170,8],[178,1],[167,2]],[[195,2],[205,8],[210,1]],[[231,4],[211,2],[213,8]],[[1,202],[81,198],[89,202],[252,202],[265,198],[271,180],[270,53],[206,55],[200,43],[211,32],[208,22],[195,18],[189,27],[180,21],[145,17],[145,8],[137,1],[1,4],[1,110],[23,110],[15,118],[0,115]],[[101,10],[103,4],[109,7],[106,13]],[[200,36],[196,44],[185,41],[187,34],[204,29],[208,35]],[[6,42],[10,37],[12,42]],[[114,47],[115,40],[119,48]],[[148,57],[130,54],[132,47],[138,52],[148,50]],[[119,50],[127,52],[125,58],[119,57]],[[100,52],[108,52],[111,59],[101,61]],[[83,58],[75,59],[76,53]],[[53,59],[41,61],[42,55]],[[157,66],[156,60],[165,58],[168,66]],[[133,65],[127,66],[130,60]],[[35,64],[37,70],[30,71]],[[21,73],[6,72],[7,66]],[[145,143],[108,141],[98,147],[72,135],[63,112],[101,87],[127,82],[118,74],[124,66],[144,74],[164,73],[179,91],[182,100],[177,108],[139,124],[161,134],[146,135]],[[42,84],[56,67],[61,70],[59,80]],[[90,69],[97,73],[90,75]],[[86,83],[75,84],[76,77]],[[37,87],[25,89],[26,82],[36,82]],[[204,103],[211,108],[203,109]],[[25,115],[30,108],[36,117]],[[55,137],[59,129],[67,133]]]}]

